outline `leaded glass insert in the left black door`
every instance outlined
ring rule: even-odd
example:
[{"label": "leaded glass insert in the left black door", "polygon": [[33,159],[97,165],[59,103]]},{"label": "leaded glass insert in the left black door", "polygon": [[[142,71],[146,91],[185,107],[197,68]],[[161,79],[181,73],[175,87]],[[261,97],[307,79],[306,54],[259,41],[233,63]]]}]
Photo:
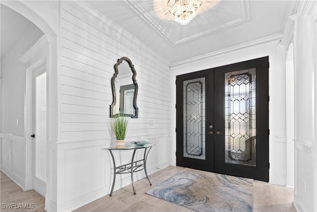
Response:
[{"label": "leaded glass insert in the left black door", "polygon": [[183,82],[184,157],[206,159],[205,78]]}]

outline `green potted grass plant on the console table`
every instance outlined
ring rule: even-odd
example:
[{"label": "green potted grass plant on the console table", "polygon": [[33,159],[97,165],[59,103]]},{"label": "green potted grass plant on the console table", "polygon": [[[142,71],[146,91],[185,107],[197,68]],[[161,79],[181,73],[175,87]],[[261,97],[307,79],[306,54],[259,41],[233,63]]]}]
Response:
[{"label": "green potted grass plant on the console table", "polygon": [[124,139],[128,130],[129,117],[117,114],[110,122],[111,129],[116,138],[115,144],[124,145]]}]

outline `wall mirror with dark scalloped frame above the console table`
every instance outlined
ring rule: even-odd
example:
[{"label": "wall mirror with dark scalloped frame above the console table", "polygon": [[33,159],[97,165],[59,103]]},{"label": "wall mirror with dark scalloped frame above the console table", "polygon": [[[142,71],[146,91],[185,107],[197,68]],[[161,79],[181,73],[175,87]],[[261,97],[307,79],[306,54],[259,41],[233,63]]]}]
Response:
[{"label": "wall mirror with dark scalloped frame above the console table", "polygon": [[120,58],[114,64],[114,74],[111,78],[113,99],[110,105],[111,118],[117,114],[138,118],[138,84],[135,78],[136,75],[137,73],[129,58]]}]

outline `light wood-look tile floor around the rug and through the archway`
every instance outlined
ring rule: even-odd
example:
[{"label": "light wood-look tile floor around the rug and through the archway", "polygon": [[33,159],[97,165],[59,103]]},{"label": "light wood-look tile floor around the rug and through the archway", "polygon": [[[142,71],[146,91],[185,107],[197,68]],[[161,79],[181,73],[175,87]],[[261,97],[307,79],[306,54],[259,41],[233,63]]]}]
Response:
[{"label": "light wood-look tile floor around the rug and through the archway", "polygon": [[[135,182],[136,195],[128,185],[114,191],[112,197],[106,195],[74,212],[193,212],[190,209],[165,202],[145,194],[156,184],[181,171],[182,167],[169,166],[149,176],[152,186],[146,178]],[[35,209],[26,212],[44,212],[45,200],[34,190],[23,192],[12,180],[1,172],[2,203],[34,203]],[[254,212],[296,212],[293,204],[293,189],[261,181],[254,181]],[[21,210],[3,210],[15,212]],[[24,212],[24,211],[23,211]]]}]

